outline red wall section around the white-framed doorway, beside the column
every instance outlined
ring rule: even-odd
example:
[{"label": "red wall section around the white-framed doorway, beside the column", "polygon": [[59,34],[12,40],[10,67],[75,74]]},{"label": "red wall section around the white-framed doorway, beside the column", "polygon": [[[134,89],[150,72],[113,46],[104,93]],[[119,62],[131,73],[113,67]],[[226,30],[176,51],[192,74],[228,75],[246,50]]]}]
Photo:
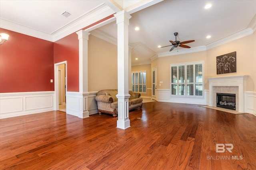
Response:
[{"label": "red wall section around the white-framed doorway, beside the column", "polygon": [[67,91],[79,92],[79,41],[72,33],[54,42],[54,64],[67,61]]}]

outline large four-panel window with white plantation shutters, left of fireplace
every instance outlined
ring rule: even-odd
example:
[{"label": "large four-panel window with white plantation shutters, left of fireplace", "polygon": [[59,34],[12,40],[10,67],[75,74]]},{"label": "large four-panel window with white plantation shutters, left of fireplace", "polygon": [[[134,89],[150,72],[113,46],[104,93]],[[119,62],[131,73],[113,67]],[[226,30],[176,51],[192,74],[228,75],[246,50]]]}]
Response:
[{"label": "large four-panel window with white plantation shutters, left of fireplace", "polygon": [[170,65],[171,96],[203,96],[203,62]]}]

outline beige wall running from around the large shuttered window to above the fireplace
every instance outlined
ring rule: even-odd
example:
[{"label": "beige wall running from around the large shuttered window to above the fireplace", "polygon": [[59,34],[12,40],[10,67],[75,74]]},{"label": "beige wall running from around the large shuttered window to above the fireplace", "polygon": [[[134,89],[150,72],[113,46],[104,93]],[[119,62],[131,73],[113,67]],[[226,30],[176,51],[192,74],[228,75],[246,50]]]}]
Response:
[{"label": "beige wall running from around the large shuttered window to above the fireplace", "polygon": [[[236,72],[218,74],[216,71],[216,57],[236,51]],[[207,51],[158,57],[152,62],[152,67],[158,67],[158,89],[170,89],[170,64],[204,61],[204,88],[209,89],[206,78],[217,76],[249,75],[247,91],[256,91],[256,33],[232,42],[214,47]],[[159,86],[159,82],[163,84]]]}]

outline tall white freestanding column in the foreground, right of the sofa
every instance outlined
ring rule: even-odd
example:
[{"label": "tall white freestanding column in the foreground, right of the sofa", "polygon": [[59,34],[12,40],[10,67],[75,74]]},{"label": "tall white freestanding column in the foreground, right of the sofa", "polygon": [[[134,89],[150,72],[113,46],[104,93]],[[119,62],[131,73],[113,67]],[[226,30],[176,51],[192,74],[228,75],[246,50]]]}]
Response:
[{"label": "tall white freestanding column in the foreground, right of the sofa", "polygon": [[126,129],[130,127],[129,119],[129,44],[128,25],[131,16],[121,11],[114,14],[117,23],[117,56],[118,56],[118,120],[117,127]]}]

